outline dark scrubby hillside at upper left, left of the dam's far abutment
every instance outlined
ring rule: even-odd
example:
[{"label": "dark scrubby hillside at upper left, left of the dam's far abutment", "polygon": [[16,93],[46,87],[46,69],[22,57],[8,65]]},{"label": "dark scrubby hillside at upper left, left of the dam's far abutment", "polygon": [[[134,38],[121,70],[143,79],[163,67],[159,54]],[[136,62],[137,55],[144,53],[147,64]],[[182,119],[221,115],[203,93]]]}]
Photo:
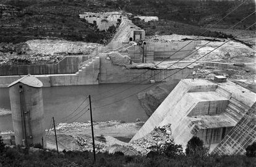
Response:
[{"label": "dark scrubby hillside at upper left, left of the dam's far abutment", "polygon": [[79,14],[90,10],[90,4],[73,1],[1,1],[0,42],[61,38],[106,43],[113,36],[113,28],[100,32],[94,25],[79,18]]}]

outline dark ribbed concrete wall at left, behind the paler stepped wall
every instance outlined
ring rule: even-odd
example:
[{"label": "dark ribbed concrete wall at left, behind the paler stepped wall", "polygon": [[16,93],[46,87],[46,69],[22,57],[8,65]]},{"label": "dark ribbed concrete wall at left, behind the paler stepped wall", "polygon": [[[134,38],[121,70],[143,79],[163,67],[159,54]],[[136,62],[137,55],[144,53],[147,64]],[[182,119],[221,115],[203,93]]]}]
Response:
[{"label": "dark ribbed concrete wall at left, behind the paler stepped wall", "polygon": [[88,59],[87,55],[67,56],[56,64],[45,65],[2,65],[0,76],[5,75],[48,75],[75,73],[79,70],[79,63]]}]

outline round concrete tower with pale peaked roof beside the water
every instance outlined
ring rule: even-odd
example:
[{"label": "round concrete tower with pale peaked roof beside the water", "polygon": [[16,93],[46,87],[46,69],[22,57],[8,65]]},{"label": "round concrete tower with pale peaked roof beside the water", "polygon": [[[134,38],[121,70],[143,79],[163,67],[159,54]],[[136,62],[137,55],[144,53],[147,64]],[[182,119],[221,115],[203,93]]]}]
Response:
[{"label": "round concrete tower with pale peaked roof beside the water", "polygon": [[16,145],[30,146],[43,141],[46,147],[42,86],[43,83],[31,75],[8,86]]}]

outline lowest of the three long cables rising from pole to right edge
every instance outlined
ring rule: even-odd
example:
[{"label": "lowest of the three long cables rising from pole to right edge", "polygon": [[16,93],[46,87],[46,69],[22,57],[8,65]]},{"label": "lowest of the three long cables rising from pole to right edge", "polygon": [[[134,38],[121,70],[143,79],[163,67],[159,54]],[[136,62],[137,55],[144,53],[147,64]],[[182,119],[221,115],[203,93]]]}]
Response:
[{"label": "lowest of the three long cables rising from pole to right edge", "polygon": [[[256,23],[250,25],[250,26],[247,27],[245,30],[249,29],[251,26],[254,26],[255,24],[256,24]],[[241,33],[239,33],[238,35],[240,35],[240,34],[241,34]],[[236,35],[236,36],[238,36],[238,35]],[[234,36],[234,37],[231,38],[231,39],[234,39],[236,36]],[[231,41],[231,39],[228,39],[228,41]],[[225,43],[223,43],[223,44],[221,44],[220,46],[216,47],[215,49],[213,49],[212,51],[210,51],[210,52],[208,52],[207,54],[203,55],[202,57],[198,58],[197,60],[195,60],[195,61],[192,62],[192,63],[195,63],[195,62],[197,62],[198,60],[202,59],[202,58],[205,57],[206,55],[210,54],[211,52],[215,51],[215,50],[218,49],[219,47],[221,47],[221,46],[223,46],[224,44],[228,43],[228,41],[226,41]],[[192,63],[190,63],[189,65],[192,65]],[[163,80],[165,80],[165,79],[167,79],[167,78],[173,76],[174,74],[178,73],[178,72],[181,71],[181,70],[184,70],[185,68],[189,67],[189,65],[187,65],[187,66],[184,67],[184,68],[181,68],[180,70],[178,70],[178,71],[176,71],[175,73],[173,73],[173,74],[167,76],[166,78],[161,79],[161,81],[163,81]],[[161,82],[161,81],[160,81],[160,82]],[[158,83],[155,83],[155,84],[158,84]],[[141,91],[139,91],[139,92],[145,91],[146,89],[151,88],[152,86],[155,86],[155,84],[152,84],[152,85],[148,86],[147,88],[145,88],[145,89],[143,89],[143,90],[141,90]],[[130,96],[127,96],[127,97],[125,97],[125,98],[123,98],[123,99],[119,99],[119,100],[117,100],[116,102],[120,102],[120,101],[122,101],[122,100],[124,100],[124,99],[128,99],[129,97],[132,97],[132,96],[134,96],[135,94],[138,94],[139,92],[136,92],[136,93],[134,93],[134,94],[132,94],[132,95],[130,95]],[[100,107],[95,107],[95,108],[93,108],[93,109],[106,107],[106,106],[108,106],[108,105],[115,104],[116,102],[112,102],[112,103],[106,104],[106,105],[101,105]]]}]

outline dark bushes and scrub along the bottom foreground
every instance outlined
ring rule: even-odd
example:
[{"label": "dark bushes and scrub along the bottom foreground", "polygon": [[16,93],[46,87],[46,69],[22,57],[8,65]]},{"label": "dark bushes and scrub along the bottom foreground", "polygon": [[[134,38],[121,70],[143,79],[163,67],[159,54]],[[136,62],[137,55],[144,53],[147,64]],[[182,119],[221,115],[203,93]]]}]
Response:
[{"label": "dark bushes and scrub along the bottom foreground", "polygon": [[[194,139],[193,139],[194,140]],[[202,150],[201,144],[193,142],[192,150]],[[38,145],[36,145],[38,147]],[[189,150],[190,150],[189,149]],[[93,163],[93,153],[54,150],[25,149],[20,146],[4,147],[0,138],[0,166],[254,166],[255,157],[244,155],[208,155],[208,153],[190,152],[185,155],[180,145],[169,144],[163,148],[148,153],[147,157],[140,155],[125,156],[122,152],[114,154],[97,153],[96,163]]]}]

